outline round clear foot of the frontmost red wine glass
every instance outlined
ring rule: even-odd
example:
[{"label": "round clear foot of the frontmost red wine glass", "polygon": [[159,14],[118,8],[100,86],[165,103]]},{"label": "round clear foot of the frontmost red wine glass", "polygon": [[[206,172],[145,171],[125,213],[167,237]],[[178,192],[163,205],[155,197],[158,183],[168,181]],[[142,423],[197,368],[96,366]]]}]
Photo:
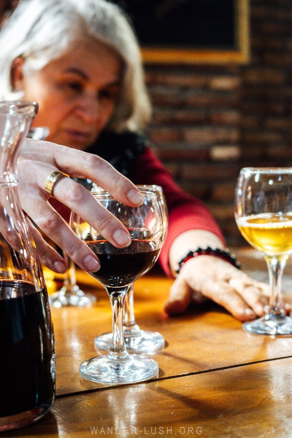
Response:
[{"label": "round clear foot of the frontmost red wine glass", "polygon": [[93,357],[80,365],[80,375],[97,383],[137,383],[158,374],[158,363],[146,356],[127,354],[112,360],[109,354]]}]

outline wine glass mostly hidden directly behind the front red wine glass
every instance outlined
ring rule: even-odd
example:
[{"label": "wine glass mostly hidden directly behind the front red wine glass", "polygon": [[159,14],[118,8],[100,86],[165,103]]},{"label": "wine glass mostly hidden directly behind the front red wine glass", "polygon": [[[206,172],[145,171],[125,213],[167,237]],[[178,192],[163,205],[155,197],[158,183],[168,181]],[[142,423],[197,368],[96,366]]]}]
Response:
[{"label": "wine glass mostly hidden directly behind the front red wine glass", "polygon": [[[163,237],[162,245],[164,243],[167,226],[168,226],[168,212],[166,201],[164,198],[163,189],[160,185],[137,185],[138,189],[144,192],[155,193],[159,202],[159,206],[163,218]],[[157,331],[146,331],[140,329],[138,324],[136,324],[135,313],[134,313],[134,287],[133,284],[125,298],[124,305],[124,341],[126,348],[129,353],[146,353],[155,354],[164,349],[164,336]],[[101,350],[109,350],[111,343],[111,333],[103,333],[94,339],[95,348]]]}]

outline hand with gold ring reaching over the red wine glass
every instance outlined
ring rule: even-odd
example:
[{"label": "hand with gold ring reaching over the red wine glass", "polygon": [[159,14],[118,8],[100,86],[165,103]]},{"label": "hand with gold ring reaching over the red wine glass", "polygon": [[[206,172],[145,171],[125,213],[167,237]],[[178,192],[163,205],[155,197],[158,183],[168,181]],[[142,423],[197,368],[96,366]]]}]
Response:
[{"label": "hand with gold ring reaching over the red wine glass", "polygon": [[[97,271],[100,266],[97,256],[49,203],[45,184],[48,176],[56,170],[72,177],[90,179],[130,206],[142,203],[141,193],[128,178],[96,155],[46,141],[25,140],[18,159],[19,198],[23,210],[82,269]],[[92,227],[98,228],[114,246],[122,248],[130,244],[128,230],[122,223],[71,178],[56,181],[53,195]],[[33,224],[31,231],[40,261],[55,272],[65,272],[63,258],[45,242]]]}]

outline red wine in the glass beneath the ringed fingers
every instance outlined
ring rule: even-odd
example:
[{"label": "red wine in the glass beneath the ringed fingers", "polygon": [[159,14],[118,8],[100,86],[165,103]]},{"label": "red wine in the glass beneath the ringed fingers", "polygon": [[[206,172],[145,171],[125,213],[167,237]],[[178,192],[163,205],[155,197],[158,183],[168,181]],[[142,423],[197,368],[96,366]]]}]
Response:
[{"label": "red wine in the glass beneath the ringed fingers", "polygon": [[133,283],[153,266],[160,252],[150,240],[132,239],[126,248],[116,248],[107,240],[86,243],[98,256],[101,266],[91,275],[112,288]]}]

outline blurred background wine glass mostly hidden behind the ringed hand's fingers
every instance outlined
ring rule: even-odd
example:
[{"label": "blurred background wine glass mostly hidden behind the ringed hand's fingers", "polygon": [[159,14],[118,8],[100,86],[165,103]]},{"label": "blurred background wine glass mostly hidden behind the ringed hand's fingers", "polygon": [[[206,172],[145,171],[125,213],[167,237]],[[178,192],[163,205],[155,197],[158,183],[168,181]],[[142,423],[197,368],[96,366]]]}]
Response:
[{"label": "blurred background wine glass mostly hidden behind the ringed hand's fingers", "polygon": [[[87,190],[91,190],[92,182],[83,178],[72,178],[77,183],[83,185]],[[73,260],[63,253],[67,264],[67,271],[64,274],[64,284],[58,291],[49,296],[50,305],[55,308],[63,306],[90,307],[96,297],[90,293],[85,293],[80,289],[76,282],[76,265]]]}]

